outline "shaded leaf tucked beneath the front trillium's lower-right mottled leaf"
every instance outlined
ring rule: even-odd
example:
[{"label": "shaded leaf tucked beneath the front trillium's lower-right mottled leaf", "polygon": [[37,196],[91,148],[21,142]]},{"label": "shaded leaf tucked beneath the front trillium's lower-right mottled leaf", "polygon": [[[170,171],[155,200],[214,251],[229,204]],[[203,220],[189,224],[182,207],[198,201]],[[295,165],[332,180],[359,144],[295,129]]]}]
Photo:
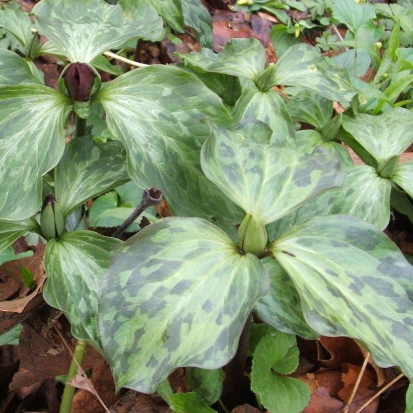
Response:
[{"label": "shaded leaf tucked beneath the front trillium's lower-right mottled leaf", "polygon": [[268,275],[269,291],[257,301],[254,312],[264,323],[284,333],[317,338],[318,333],[304,319],[300,296],[285,269],[274,258],[261,262]]}]

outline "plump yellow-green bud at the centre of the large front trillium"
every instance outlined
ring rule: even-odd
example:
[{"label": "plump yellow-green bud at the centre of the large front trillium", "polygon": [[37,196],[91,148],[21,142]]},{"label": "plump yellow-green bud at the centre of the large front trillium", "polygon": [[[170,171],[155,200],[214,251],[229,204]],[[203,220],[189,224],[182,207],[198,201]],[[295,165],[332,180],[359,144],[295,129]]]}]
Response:
[{"label": "plump yellow-green bud at the centre of the large front trillium", "polygon": [[238,240],[244,252],[262,254],[268,241],[265,225],[254,214],[248,214],[238,228]]}]

